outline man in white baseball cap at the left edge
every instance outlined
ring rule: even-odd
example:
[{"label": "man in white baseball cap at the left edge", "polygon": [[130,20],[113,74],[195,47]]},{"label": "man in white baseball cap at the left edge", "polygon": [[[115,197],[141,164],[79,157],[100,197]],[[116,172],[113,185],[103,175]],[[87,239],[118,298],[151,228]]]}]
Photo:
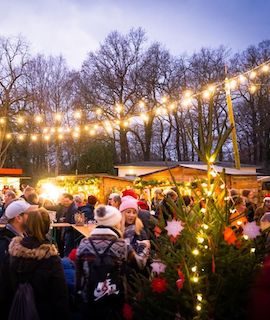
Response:
[{"label": "man in white baseball cap at the left edge", "polygon": [[9,303],[7,301],[8,279],[7,270],[9,269],[8,246],[16,236],[24,236],[28,212],[33,211],[37,206],[32,206],[25,200],[15,200],[6,208],[5,216],[8,220],[6,226],[0,230],[0,308],[1,319],[6,319]]}]

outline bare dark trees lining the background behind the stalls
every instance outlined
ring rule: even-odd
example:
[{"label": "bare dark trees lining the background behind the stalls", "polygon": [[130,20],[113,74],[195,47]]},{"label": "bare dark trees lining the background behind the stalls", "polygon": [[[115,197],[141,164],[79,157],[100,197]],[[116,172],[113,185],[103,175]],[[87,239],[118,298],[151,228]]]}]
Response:
[{"label": "bare dark trees lining the background behind the stalls", "polygon": [[[268,40],[237,54],[220,46],[202,48],[190,56],[173,56],[162,44],[147,41],[143,30],[136,29],[126,35],[110,33],[97,51],[89,52],[80,70],[71,70],[61,56],[33,56],[22,39],[2,37],[0,118],[4,120],[0,124],[0,167],[22,167],[26,174],[37,176],[76,170],[111,172],[113,162],[134,160],[197,161],[187,130],[198,141],[199,123],[207,122],[208,101],[197,96],[191,105],[184,106],[180,101],[186,90],[200,92],[224,80],[225,65],[231,76],[268,59]],[[267,166],[269,74],[252,82],[255,93],[250,93],[248,80],[232,96],[241,161]],[[213,130],[218,134],[227,118],[224,90],[215,92],[213,102]],[[151,112],[159,106],[166,106],[170,112]],[[98,114],[97,109],[101,111]],[[81,119],[74,119],[75,110],[82,111]],[[63,116],[58,123],[53,116],[56,112]],[[147,121],[138,117],[125,122],[141,112],[148,112]],[[42,123],[34,121],[38,114],[43,117]],[[18,116],[27,121],[18,123]],[[96,135],[81,132],[77,139],[58,137],[59,126],[88,124],[93,130],[93,122],[104,124],[117,119],[121,124],[112,132],[106,124]],[[44,127],[56,127],[49,142],[40,135]],[[39,133],[38,141],[19,135],[7,139],[12,132]],[[219,160],[232,159],[231,142],[227,141]]]}]

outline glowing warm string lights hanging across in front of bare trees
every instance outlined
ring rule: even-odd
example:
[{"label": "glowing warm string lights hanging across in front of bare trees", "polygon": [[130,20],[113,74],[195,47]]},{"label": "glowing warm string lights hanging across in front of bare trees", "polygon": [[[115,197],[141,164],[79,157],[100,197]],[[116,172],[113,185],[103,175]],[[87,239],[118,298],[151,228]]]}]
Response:
[{"label": "glowing warm string lights hanging across in front of bare trees", "polygon": [[[156,116],[166,116],[169,114],[169,112],[175,112],[177,110],[177,106],[182,105],[183,107],[187,107],[192,104],[193,100],[198,97],[202,97],[205,100],[210,99],[210,97],[215,93],[217,89],[229,89],[229,90],[235,90],[237,87],[244,85],[248,81],[253,81],[257,78],[260,72],[263,75],[266,75],[270,72],[270,60],[260,64],[259,66],[256,66],[255,68],[248,70],[244,73],[238,74],[234,77],[231,77],[230,79],[223,80],[221,82],[218,82],[216,84],[210,84],[208,87],[202,91],[199,91],[197,93],[193,93],[191,90],[186,90],[183,93],[182,99],[179,101],[174,101],[168,103],[168,98],[163,97],[161,99],[161,102],[158,103],[158,106],[154,107],[150,111],[146,112],[139,112],[136,114],[133,114],[129,118],[124,119],[124,117],[120,117],[120,114],[123,110],[123,107],[120,104],[116,104],[115,111],[117,112],[118,116],[120,118],[116,120],[98,120],[97,121],[89,121],[89,124],[84,124],[80,126],[75,127],[68,127],[68,126],[58,126],[57,123],[61,123],[63,120],[63,117],[60,113],[53,114],[53,118],[55,120],[56,126],[54,127],[44,127],[41,129],[41,132],[36,133],[18,133],[18,132],[8,132],[6,133],[5,137],[6,139],[10,140],[13,137],[17,137],[19,141],[23,141],[25,137],[30,136],[30,139],[35,142],[38,140],[39,136],[42,135],[43,140],[49,141],[53,137],[57,137],[59,140],[63,140],[67,134],[69,134],[74,139],[78,139],[80,135],[85,132],[88,133],[89,136],[95,136],[99,130],[104,129],[107,133],[112,133],[113,130],[117,126],[122,126],[123,128],[127,128],[130,123],[136,119],[140,118],[144,122],[148,122],[150,119],[151,114],[155,114]],[[249,91],[251,94],[254,94],[257,90],[258,85],[252,84],[249,86]],[[139,103],[140,107],[144,107],[145,103],[144,101],[141,101]],[[101,108],[97,108],[95,110],[95,114],[97,116],[102,116],[103,112]],[[74,119],[80,120],[82,119],[82,112],[80,110],[76,110],[73,114]],[[24,125],[25,124],[25,117],[18,116],[17,117],[17,125]],[[41,115],[37,115],[34,117],[34,122],[36,125],[41,124],[44,121],[44,118]],[[5,117],[0,117],[0,125],[5,125],[7,122],[7,119]]]}]

